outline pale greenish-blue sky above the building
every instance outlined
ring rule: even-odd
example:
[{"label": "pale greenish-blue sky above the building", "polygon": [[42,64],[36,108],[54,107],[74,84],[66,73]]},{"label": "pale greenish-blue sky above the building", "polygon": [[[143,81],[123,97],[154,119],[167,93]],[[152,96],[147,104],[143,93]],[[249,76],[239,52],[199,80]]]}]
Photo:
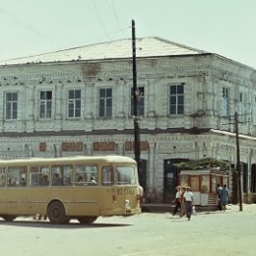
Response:
[{"label": "pale greenish-blue sky above the building", "polygon": [[256,69],[255,0],[8,0],[0,60],[104,41],[159,36]]}]

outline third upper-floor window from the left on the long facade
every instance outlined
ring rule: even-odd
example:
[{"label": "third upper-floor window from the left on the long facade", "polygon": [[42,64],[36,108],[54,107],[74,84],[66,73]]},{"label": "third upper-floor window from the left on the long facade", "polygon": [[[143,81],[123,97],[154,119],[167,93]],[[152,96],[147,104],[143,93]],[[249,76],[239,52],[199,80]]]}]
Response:
[{"label": "third upper-floor window from the left on the long facade", "polygon": [[81,90],[68,92],[68,117],[81,117]]}]

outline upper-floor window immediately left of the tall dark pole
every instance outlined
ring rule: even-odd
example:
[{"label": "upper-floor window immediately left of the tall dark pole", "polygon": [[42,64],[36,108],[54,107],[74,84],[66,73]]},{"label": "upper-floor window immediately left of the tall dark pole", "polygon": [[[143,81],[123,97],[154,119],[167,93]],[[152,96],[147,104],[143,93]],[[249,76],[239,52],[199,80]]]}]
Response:
[{"label": "upper-floor window immediately left of the tall dark pole", "polygon": [[111,117],[112,116],[112,89],[101,88],[99,89],[99,117]]}]

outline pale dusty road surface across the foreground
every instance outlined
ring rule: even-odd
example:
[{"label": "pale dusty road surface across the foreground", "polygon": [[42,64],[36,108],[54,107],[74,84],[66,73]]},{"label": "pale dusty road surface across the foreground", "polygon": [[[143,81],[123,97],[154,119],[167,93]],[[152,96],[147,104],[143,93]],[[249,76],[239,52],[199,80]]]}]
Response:
[{"label": "pale dusty road surface across the foreground", "polygon": [[256,205],[197,213],[98,218],[95,224],[56,225],[32,218],[0,221],[3,256],[256,256]]}]

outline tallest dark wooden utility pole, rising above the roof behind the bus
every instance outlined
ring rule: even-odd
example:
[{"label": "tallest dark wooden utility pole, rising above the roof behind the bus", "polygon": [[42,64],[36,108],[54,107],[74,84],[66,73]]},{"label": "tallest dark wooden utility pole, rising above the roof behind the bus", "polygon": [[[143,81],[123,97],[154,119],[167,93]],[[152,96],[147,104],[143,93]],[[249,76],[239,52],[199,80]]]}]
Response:
[{"label": "tallest dark wooden utility pole, rising above the roof behind the bus", "polygon": [[140,179],[140,124],[138,120],[138,92],[137,92],[137,68],[136,68],[136,36],[135,22],[132,20],[132,50],[133,50],[133,115],[134,115],[134,155],[137,161]]}]

